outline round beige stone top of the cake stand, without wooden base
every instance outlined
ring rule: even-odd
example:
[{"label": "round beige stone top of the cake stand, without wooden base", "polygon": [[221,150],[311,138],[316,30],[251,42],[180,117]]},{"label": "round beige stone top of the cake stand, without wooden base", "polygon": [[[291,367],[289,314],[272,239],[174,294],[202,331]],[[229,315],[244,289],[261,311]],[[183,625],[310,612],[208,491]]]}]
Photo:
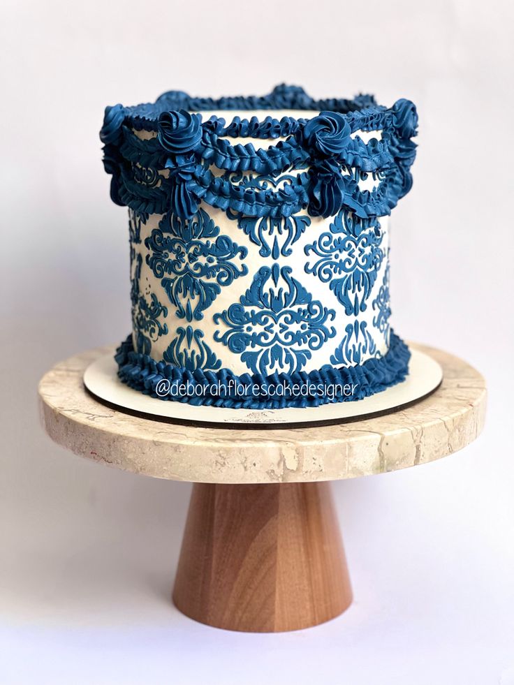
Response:
[{"label": "round beige stone top of the cake stand, without wooden base", "polygon": [[443,367],[443,383],[413,406],[375,418],[309,428],[228,429],[139,418],[91,397],[75,355],[39,385],[47,434],[76,455],[156,478],[198,483],[293,483],[355,478],[445,457],[483,428],[485,381],[461,359],[412,344]]}]

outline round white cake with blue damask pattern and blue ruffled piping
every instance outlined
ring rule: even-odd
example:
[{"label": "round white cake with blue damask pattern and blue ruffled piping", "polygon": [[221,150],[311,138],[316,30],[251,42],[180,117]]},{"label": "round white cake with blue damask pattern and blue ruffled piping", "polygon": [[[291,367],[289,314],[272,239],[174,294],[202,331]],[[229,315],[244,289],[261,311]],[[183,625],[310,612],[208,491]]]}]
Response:
[{"label": "round white cake with blue damask pattern and blue ruffled piping", "polygon": [[389,215],[411,189],[410,101],[263,97],[105,109],[129,207],[131,335],[119,378],[161,399],[280,408],[406,378],[390,329]]}]

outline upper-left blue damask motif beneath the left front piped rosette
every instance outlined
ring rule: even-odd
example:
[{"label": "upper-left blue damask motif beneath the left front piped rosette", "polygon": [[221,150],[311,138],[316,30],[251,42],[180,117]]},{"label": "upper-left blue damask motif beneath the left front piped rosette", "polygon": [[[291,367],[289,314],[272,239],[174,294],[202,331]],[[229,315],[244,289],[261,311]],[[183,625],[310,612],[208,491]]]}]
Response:
[{"label": "upper-left blue damask motif beneath the left front piped rosette", "polygon": [[203,209],[191,219],[168,212],[145,245],[147,264],[161,279],[177,316],[186,321],[200,321],[221,286],[248,273],[246,265],[233,263],[247,256],[247,248],[219,235],[219,227]]}]

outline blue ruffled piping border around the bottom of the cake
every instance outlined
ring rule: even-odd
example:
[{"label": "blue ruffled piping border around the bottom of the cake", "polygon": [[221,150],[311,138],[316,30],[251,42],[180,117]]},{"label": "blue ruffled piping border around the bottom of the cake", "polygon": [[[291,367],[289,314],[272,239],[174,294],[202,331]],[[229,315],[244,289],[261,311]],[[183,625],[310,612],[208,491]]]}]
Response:
[{"label": "blue ruffled piping border around the bottom of the cake", "polygon": [[363,399],[404,381],[410,358],[409,348],[393,332],[387,353],[359,366],[326,365],[316,371],[271,376],[237,376],[230,369],[189,371],[156,362],[149,355],[135,352],[131,335],[115,354],[122,383],[145,395],[197,406],[249,409],[310,407]]}]

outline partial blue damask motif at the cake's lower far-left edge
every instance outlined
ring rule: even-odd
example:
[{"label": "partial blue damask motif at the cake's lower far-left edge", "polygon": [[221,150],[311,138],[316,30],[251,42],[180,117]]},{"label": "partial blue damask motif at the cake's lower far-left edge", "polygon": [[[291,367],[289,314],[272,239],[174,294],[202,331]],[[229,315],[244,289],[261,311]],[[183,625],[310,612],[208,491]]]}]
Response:
[{"label": "partial blue damask motif at the cake's lower far-left edge", "polygon": [[136,332],[136,350],[149,355],[152,351],[152,341],[156,341],[161,335],[168,333],[168,325],[161,323],[161,317],[168,316],[168,308],[165,307],[155,293],[150,295],[148,301],[140,292],[142,256],[135,256],[135,270],[131,283],[132,303],[132,326]]}]

